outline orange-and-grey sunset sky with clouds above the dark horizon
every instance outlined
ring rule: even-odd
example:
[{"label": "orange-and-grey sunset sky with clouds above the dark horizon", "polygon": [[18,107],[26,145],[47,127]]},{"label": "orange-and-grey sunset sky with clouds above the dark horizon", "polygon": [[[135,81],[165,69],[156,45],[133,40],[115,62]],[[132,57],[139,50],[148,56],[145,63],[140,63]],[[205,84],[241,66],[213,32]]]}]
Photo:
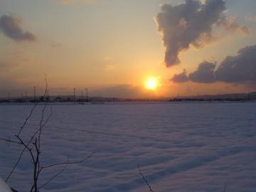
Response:
[{"label": "orange-and-grey sunset sky with clouds above the dark horizon", "polygon": [[[255,0],[1,0],[0,97],[256,91]],[[149,89],[146,82],[156,80]]]}]

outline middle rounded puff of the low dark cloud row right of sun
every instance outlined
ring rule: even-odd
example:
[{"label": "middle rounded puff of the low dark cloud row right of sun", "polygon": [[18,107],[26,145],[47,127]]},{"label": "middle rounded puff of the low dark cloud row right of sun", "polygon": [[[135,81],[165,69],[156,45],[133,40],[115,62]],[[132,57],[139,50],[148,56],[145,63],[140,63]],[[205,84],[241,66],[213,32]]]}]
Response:
[{"label": "middle rounded puff of the low dark cloud row right of sun", "polygon": [[203,62],[198,65],[198,69],[188,75],[188,79],[193,82],[215,82],[215,63]]}]

